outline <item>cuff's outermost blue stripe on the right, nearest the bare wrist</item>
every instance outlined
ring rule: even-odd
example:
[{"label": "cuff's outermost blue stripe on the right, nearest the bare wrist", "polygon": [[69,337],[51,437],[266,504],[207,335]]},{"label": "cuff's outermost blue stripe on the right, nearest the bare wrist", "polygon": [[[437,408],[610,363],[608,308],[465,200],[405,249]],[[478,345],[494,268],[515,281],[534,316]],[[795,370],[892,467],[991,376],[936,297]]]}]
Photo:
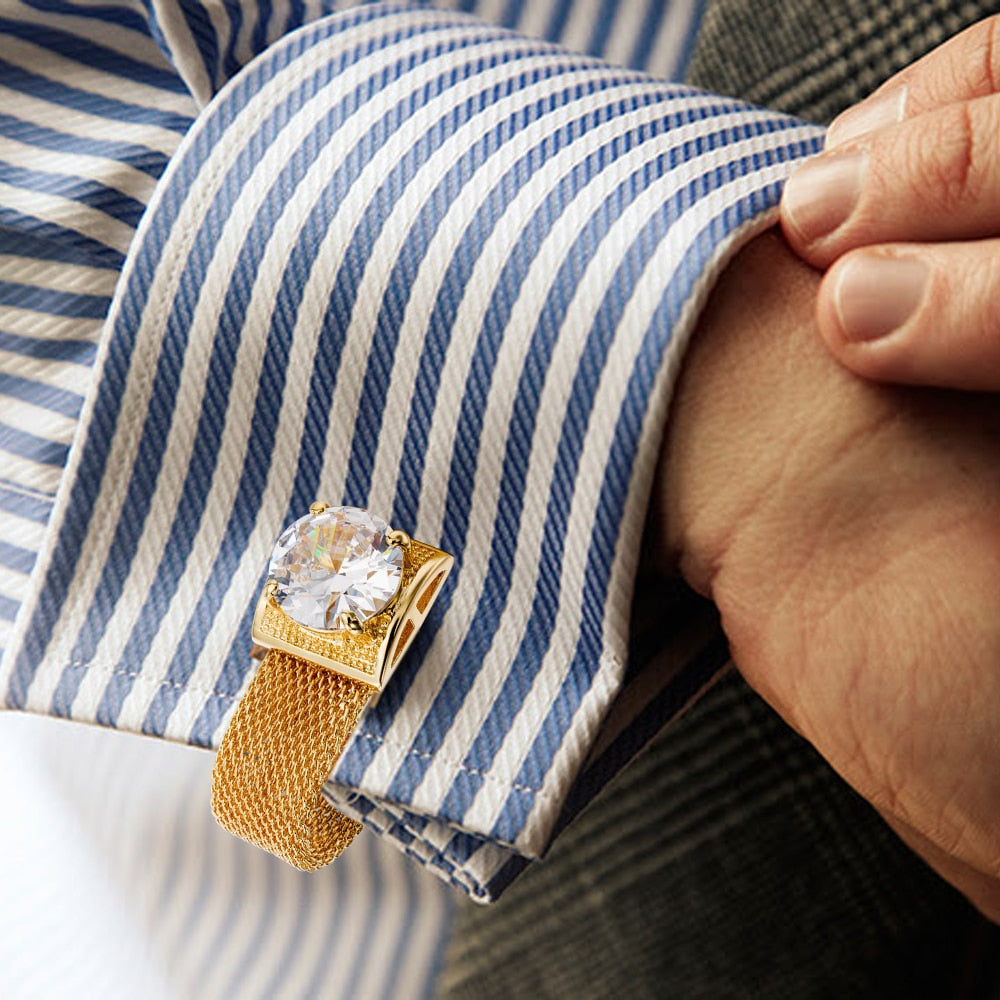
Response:
[{"label": "cuff's outermost blue stripe on the right, nearest the bare wrist", "polygon": [[[816,143],[802,143],[800,152],[814,151]],[[735,170],[735,162],[725,168],[727,180],[733,176],[745,174],[748,168],[756,171],[767,162],[773,162],[770,151],[744,158]],[[720,172],[723,168],[720,168]],[[662,355],[669,338],[657,335],[657,331],[669,333],[674,329],[684,303],[691,289],[701,274],[705,262],[710,258],[715,246],[728,233],[734,231],[745,222],[767,208],[777,205],[780,198],[781,185],[770,184],[767,187],[753,191],[739,199],[706,225],[696,242],[689,248],[677,268],[677,279],[666,290],[657,314],[650,324],[650,332],[644,344],[644,349],[636,359],[629,380],[629,391],[616,419],[615,434],[609,451],[611,461],[605,472],[601,488],[598,511],[604,515],[603,523],[595,527],[591,538],[591,546],[587,556],[587,568],[584,578],[584,593],[582,607],[590,610],[584,615],[576,652],[569,670],[571,683],[564,684],[556,696],[546,718],[538,728],[532,746],[525,757],[511,793],[492,828],[492,835],[500,840],[513,841],[524,828],[524,823],[534,802],[534,792],[540,789],[562,738],[569,727],[573,713],[579,706],[584,694],[589,690],[593,675],[596,672],[597,660],[594,650],[601,648],[603,622],[599,619],[603,605],[600,595],[606,592],[607,579],[617,541],[618,526],[624,508],[631,474],[630,457],[635,453],[636,442],[641,431],[642,417],[645,413],[645,401],[649,398],[652,382],[662,362]],[[700,192],[699,192],[700,193]],[[697,195],[692,192],[692,202]],[[564,429],[565,430],[565,429]],[[564,440],[568,440],[564,437]],[[560,448],[563,441],[560,441]],[[554,498],[553,498],[554,499]],[[558,512],[550,500],[550,517],[558,519]],[[596,602],[596,603],[593,603]],[[518,657],[520,660],[520,655]],[[517,662],[512,670],[517,669]],[[498,699],[500,701],[501,699]],[[546,762],[544,768],[542,762]]]}]

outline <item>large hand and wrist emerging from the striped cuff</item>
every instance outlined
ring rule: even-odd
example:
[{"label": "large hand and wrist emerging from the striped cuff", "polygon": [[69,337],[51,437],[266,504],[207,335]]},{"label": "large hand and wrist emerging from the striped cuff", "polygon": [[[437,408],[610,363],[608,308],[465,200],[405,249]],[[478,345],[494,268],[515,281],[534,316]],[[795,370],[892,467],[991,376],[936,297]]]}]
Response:
[{"label": "large hand and wrist emerging from the striped cuff", "polygon": [[1000,920],[1000,412],[855,378],[817,284],[773,233],[724,274],[658,470],[662,551],[747,680]]}]

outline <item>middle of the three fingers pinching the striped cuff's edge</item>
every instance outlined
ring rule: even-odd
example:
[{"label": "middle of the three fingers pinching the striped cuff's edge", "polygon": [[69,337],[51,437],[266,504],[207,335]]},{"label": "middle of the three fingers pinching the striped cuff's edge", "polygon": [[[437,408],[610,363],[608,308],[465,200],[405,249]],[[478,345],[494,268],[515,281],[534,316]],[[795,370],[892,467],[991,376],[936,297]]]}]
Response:
[{"label": "middle of the three fingers pinching the striped cuff's edge", "polygon": [[951,104],[814,157],[785,185],[782,225],[816,267],[866,244],[1000,231],[1000,95]]}]

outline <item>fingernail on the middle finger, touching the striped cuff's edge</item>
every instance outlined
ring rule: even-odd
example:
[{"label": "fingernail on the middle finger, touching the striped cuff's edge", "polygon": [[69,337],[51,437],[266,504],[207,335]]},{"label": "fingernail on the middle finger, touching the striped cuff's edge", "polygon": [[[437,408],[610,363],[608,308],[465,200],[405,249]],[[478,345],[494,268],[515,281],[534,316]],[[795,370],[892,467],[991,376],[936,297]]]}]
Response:
[{"label": "fingernail on the middle finger, touching the striped cuff's edge", "polygon": [[867,165],[867,153],[834,153],[809,160],[789,177],[781,211],[804,243],[815,242],[848,220]]}]

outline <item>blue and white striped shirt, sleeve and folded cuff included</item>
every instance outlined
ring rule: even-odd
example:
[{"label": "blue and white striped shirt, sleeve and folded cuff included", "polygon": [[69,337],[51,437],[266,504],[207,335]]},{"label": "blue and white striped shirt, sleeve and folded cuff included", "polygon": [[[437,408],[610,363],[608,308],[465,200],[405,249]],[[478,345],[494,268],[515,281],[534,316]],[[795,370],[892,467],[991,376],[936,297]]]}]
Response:
[{"label": "blue and white striped shirt, sleeve and folded cuff included", "polygon": [[337,6],[6,7],[0,688],[215,746],[274,537],[367,507],[456,568],[326,791],[489,901],[726,662],[630,652],[645,512],[820,132],[665,82],[697,0]]}]

